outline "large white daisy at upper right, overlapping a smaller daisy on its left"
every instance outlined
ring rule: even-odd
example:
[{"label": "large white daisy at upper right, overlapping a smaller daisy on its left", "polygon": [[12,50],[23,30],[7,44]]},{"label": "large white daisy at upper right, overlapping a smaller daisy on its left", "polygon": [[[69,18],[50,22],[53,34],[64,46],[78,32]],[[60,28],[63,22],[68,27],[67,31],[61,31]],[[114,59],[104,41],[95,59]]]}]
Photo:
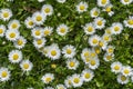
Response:
[{"label": "large white daisy at upper right, overlapping a smaller daisy on its left", "polygon": [[120,22],[112,23],[111,31],[113,34],[120,34],[123,30],[123,26]]}]

